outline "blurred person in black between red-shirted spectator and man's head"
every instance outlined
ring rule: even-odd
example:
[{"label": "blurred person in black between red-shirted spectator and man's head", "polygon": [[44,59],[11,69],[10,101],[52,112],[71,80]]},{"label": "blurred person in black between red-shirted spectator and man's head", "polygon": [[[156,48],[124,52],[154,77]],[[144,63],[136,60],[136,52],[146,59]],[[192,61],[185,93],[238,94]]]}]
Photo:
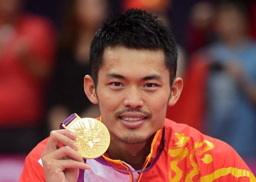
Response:
[{"label": "blurred person in black between red-shirted spectator and man's head", "polygon": [[84,94],[83,78],[89,74],[90,42],[102,21],[107,17],[106,0],[68,1],[63,11],[64,27],[58,45],[58,63],[49,93],[48,122],[50,130],[70,114],[99,117],[98,105],[93,105]]}]

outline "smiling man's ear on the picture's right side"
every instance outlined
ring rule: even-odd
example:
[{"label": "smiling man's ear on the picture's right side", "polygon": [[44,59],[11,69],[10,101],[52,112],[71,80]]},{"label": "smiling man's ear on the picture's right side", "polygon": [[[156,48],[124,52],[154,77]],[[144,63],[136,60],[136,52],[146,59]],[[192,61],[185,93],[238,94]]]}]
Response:
[{"label": "smiling man's ear on the picture's right side", "polygon": [[180,98],[180,94],[183,88],[183,80],[180,77],[177,77],[172,84],[172,93],[168,102],[169,106],[175,105],[175,103]]}]

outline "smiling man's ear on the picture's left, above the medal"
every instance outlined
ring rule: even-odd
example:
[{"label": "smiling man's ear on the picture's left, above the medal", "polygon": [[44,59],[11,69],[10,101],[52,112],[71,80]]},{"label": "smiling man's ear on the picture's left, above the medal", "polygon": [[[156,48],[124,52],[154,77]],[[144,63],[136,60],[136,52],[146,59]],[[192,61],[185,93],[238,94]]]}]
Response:
[{"label": "smiling man's ear on the picture's left, above the medal", "polygon": [[96,95],[96,87],[93,82],[93,78],[90,75],[85,75],[84,77],[84,92],[90,102],[93,104],[98,104],[98,97]]}]

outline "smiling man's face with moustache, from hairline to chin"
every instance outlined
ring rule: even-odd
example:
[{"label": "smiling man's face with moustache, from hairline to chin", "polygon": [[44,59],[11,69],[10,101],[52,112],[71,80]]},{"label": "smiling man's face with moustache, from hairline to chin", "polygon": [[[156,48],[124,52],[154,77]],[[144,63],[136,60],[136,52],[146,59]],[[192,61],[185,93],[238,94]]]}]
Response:
[{"label": "smiling man's face with moustache, from hairline to chin", "polygon": [[163,128],[171,89],[161,50],[106,48],[96,88],[102,122],[121,142],[145,142]]}]

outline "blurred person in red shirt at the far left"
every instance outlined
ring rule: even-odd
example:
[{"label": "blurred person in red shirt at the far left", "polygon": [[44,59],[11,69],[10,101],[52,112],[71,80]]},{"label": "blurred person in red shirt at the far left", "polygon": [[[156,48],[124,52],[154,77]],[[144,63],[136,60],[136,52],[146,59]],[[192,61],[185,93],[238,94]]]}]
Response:
[{"label": "blurred person in red shirt at the far left", "polygon": [[48,20],[22,0],[0,0],[1,153],[28,152],[41,140],[44,94],[55,46]]}]

